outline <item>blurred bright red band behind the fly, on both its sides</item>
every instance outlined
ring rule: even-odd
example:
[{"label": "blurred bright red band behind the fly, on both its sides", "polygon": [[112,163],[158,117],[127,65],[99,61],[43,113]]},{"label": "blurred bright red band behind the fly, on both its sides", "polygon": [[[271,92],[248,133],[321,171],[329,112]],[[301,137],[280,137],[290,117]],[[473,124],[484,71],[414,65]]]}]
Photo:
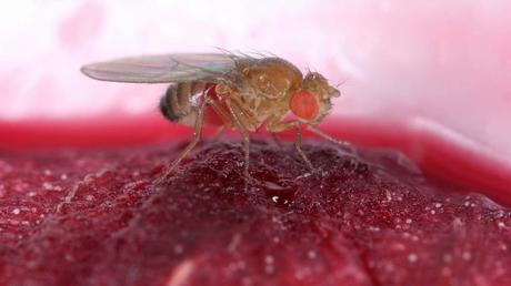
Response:
[{"label": "blurred bright red band behind the fly, on both its sides", "polygon": [[[479,191],[511,205],[511,166],[488,152],[452,142],[434,130],[407,123],[371,120],[328,121],[322,129],[354,144],[402,151],[425,173]],[[211,133],[207,129],[206,133]],[[170,123],[159,114],[98,118],[76,121],[0,122],[0,147],[7,150],[56,147],[116,147],[188,140],[191,127]],[[307,136],[313,136],[307,133]],[[283,135],[292,137],[292,133]],[[482,147],[481,147],[482,149]]]}]

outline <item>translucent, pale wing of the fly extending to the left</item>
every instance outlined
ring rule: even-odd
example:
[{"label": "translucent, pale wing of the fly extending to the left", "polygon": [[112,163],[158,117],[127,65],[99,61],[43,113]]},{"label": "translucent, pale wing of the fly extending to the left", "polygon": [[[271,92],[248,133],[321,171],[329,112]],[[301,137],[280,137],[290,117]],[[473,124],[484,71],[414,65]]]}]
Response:
[{"label": "translucent, pale wing of the fly extending to the left", "polygon": [[92,63],[81,71],[96,80],[116,82],[214,81],[236,69],[236,55],[224,53],[174,53]]}]

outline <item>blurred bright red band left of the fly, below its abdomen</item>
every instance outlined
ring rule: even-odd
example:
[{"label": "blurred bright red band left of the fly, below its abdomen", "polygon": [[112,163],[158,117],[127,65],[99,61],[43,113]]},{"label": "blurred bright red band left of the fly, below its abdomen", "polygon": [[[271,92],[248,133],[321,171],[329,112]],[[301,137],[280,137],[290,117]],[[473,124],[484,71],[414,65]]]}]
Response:
[{"label": "blurred bright red band left of the fly, below its abdomen", "polygon": [[0,147],[114,147],[161,142],[169,137],[182,140],[189,134],[188,127],[171,124],[162,120],[160,114],[0,122]]}]

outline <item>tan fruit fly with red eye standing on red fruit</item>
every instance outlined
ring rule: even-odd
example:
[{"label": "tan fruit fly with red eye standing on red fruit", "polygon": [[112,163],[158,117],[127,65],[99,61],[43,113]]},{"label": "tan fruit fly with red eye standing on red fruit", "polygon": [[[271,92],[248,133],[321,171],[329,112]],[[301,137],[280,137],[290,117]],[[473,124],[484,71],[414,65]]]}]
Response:
[{"label": "tan fruit fly with red eye standing on red fruit", "polygon": [[[294,146],[314,170],[301,147],[301,124],[321,137],[338,143],[317,125],[331,109],[339,91],[318,72],[304,76],[292,63],[278,57],[247,54],[174,53],[123,58],[82,67],[96,80],[133,83],[171,83],[160,101],[170,121],[194,126],[193,140],[170,164],[167,178],[201,137],[204,124],[238,130],[243,142],[244,177],[249,178],[251,132],[261,126],[275,134],[295,131]],[[288,119],[293,114],[293,119]]]}]

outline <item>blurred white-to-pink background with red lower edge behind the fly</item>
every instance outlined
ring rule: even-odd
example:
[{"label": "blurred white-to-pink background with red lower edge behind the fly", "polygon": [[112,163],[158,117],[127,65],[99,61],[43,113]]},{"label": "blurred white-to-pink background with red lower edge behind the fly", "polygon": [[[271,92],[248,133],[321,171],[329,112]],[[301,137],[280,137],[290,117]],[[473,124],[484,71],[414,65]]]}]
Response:
[{"label": "blurred white-to-pink background with red lower edge behind the fly", "polygon": [[[439,156],[424,143],[435,139],[459,151],[451,168],[464,156],[484,159],[489,166],[502,166],[498,178],[511,182],[511,2],[254,3],[4,3],[2,146],[101,145],[137,133],[133,126],[140,139],[133,141],[141,143],[181,131],[157,112],[166,85],[98,82],[79,69],[124,55],[221,47],[269,51],[320,71],[332,83],[344,82],[327,122],[340,137],[398,147],[419,163]],[[51,132],[53,137],[44,135]],[[374,140],[387,135],[393,137]]]}]

